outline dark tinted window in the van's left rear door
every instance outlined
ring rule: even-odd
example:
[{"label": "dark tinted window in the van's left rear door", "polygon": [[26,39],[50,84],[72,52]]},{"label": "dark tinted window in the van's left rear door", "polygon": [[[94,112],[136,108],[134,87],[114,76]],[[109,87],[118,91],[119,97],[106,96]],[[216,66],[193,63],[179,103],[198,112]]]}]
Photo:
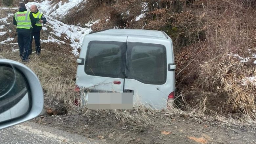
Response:
[{"label": "dark tinted window in the van's left rear door", "polygon": [[85,73],[124,78],[126,42],[91,41],[88,44]]}]

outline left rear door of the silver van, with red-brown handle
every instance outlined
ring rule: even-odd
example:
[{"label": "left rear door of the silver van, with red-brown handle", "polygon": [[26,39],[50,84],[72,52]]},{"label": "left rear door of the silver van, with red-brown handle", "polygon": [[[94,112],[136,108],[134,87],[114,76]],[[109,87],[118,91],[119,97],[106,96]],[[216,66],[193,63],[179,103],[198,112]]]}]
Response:
[{"label": "left rear door of the silver van, with red-brown handle", "polygon": [[[85,38],[80,57],[85,64],[77,68],[76,84],[87,94],[122,93],[124,88],[127,36],[94,36]],[[81,88],[81,86],[84,86]],[[88,96],[84,97],[88,100]]]}]

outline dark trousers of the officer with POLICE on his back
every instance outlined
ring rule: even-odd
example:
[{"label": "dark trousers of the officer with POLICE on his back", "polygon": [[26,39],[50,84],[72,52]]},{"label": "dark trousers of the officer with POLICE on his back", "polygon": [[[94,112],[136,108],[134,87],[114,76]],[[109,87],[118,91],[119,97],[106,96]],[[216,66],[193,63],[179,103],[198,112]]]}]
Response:
[{"label": "dark trousers of the officer with POLICE on his back", "polygon": [[29,49],[31,44],[30,32],[17,32],[18,33],[18,45],[20,50],[20,56],[22,60],[26,60],[29,57]]}]

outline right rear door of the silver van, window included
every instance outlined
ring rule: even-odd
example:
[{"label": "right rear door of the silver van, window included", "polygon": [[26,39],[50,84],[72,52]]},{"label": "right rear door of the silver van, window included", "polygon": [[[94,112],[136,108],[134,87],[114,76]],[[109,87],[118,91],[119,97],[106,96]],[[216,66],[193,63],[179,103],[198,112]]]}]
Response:
[{"label": "right rear door of the silver van, window included", "polygon": [[166,108],[175,81],[174,72],[167,72],[173,62],[170,47],[167,40],[128,36],[124,92],[134,93],[134,103]]}]

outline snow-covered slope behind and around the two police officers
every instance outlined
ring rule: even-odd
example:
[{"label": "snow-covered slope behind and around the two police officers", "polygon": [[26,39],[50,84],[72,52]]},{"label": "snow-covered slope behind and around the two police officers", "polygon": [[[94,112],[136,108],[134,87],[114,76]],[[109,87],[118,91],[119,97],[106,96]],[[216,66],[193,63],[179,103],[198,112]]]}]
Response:
[{"label": "snow-covered slope behind and around the two police officers", "polygon": [[[41,37],[41,42],[56,42],[56,43],[62,43],[65,44],[63,40],[63,37],[61,34],[66,35],[64,39],[70,40],[70,45],[73,47],[73,53],[75,55],[79,54],[77,49],[79,49],[82,45],[83,38],[86,34],[92,31],[90,26],[92,26],[94,23],[97,23],[99,20],[96,22],[89,22],[88,24],[85,24],[87,28],[82,28],[79,25],[67,25],[64,24],[61,21],[56,20],[56,17],[58,16],[63,16],[68,12],[68,10],[72,9],[75,7],[77,4],[80,2],[85,2],[83,0],[69,0],[69,2],[59,2],[58,4],[52,6],[49,0],[44,0],[41,3],[39,2],[29,2],[26,4],[27,9],[31,7],[31,5],[36,4],[38,6],[38,9],[40,11],[43,11],[47,23],[43,25],[42,32],[46,31],[49,34],[46,37]],[[58,5],[58,7],[57,7]],[[6,29],[5,27],[7,25],[12,25],[12,17],[14,13],[8,13],[5,12],[7,10],[13,10],[16,11],[18,8],[0,8],[1,13],[3,15],[0,15],[0,35],[6,35],[7,31],[10,31]],[[5,13],[4,13],[5,12]],[[62,38],[61,38],[62,37]],[[5,44],[8,40],[14,40],[15,38],[9,38],[5,39],[4,41],[2,40],[2,44]],[[61,40],[62,39],[62,40]]]}]

